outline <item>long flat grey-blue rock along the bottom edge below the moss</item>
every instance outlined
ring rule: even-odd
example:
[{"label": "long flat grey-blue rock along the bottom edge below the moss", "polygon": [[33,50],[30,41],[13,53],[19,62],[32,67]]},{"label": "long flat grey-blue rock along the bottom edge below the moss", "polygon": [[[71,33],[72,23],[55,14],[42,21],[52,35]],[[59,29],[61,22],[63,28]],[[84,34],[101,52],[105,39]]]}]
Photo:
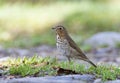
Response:
[{"label": "long flat grey-blue rock along the bottom edge below the moss", "polygon": [[93,75],[66,75],[49,77],[26,77],[1,80],[0,83],[93,83]]}]

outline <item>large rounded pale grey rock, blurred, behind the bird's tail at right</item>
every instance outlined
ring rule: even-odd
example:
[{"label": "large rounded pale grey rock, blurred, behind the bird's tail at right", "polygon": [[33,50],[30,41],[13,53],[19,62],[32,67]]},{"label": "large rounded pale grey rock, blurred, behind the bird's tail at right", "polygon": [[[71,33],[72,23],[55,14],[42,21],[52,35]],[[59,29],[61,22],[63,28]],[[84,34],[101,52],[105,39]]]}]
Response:
[{"label": "large rounded pale grey rock, blurred, behind the bird's tail at right", "polygon": [[85,41],[85,44],[92,47],[115,47],[120,43],[120,33],[117,32],[100,32]]}]

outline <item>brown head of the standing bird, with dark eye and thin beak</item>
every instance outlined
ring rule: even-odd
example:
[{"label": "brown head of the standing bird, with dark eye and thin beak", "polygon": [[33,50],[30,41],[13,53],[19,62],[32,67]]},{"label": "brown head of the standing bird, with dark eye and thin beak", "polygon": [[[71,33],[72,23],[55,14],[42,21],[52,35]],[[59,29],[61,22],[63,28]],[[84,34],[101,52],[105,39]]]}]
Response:
[{"label": "brown head of the standing bird, with dark eye and thin beak", "polygon": [[67,34],[66,29],[62,25],[55,26],[52,29],[55,30],[56,34],[60,37],[65,37]]}]

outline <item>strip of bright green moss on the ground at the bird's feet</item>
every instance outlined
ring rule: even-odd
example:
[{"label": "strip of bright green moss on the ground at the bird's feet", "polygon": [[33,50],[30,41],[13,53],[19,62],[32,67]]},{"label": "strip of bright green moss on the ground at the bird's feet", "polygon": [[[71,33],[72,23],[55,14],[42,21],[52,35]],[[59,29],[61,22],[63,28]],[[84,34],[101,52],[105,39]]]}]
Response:
[{"label": "strip of bright green moss on the ground at the bird's feet", "polygon": [[7,66],[9,67],[10,75],[19,76],[46,76],[46,75],[57,75],[57,68],[73,70],[79,74],[92,74],[96,78],[102,78],[103,81],[115,80],[120,76],[120,68],[109,66],[109,65],[98,65],[97,68],[90,66],[88,68],[83,64],[76,62],[58,62],[55,58],[41,58],[33,56],[31,58],[24,57],[23,59],[10,59]]}]

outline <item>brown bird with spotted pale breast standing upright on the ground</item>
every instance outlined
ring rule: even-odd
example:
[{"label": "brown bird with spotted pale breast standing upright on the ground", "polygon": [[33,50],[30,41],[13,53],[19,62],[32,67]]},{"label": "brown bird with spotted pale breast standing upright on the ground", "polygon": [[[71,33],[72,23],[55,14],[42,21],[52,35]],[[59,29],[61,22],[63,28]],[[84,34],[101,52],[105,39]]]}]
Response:
[{"label": "brown bird with spotted pale breast standing upright on the ground", "polygon": [[94,67],[97,67],[92,61],[88,59],[85,53],[83,53],[78,45],[72,40],[64,26],[57,25],[52,27],[52,29],[56,33],[57,50],[61,55],[67,57],[69,62],[74,58],[86,61]]}]

